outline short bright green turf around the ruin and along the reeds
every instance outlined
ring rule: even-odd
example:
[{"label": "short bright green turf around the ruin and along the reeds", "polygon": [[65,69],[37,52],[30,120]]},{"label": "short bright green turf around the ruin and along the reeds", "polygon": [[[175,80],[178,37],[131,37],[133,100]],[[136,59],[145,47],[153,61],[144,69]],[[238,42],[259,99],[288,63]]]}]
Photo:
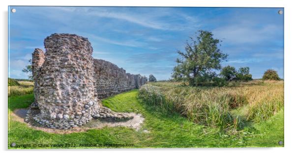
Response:
[{"label": "short bright green turf around the ruin and along the reeds", "polygon": [[[228,134],[221,133],[218,129],[194,124],[178,113],[165,113],[158,107],[145,105],[138,100],[137,96],[138,90],[132,90],[105,99],[102,103],[114,111],[141,113],[145,121],[139,131],[124,127],[106,127],[79,133],[54,134],[31,129],[27,124],[12,121],[10,118],[8,147],[14,149],[9,146],[13,142],[18,145],[48,145],[45,148],[54,148],[51,144],[72,144],[73,146],[66,148],[94,148],[82,146],[94,143],[134,144],[133,147],[127,148],[278,147],[278,141],[284,140],[283,110],[266,122],[255,124],[254,127],[235,134]],[[10,97],[8,110],[12,112],[17,108],[28,107],[33,100],[32,94]],[[37,149],[45,148],[37,147]]]}]

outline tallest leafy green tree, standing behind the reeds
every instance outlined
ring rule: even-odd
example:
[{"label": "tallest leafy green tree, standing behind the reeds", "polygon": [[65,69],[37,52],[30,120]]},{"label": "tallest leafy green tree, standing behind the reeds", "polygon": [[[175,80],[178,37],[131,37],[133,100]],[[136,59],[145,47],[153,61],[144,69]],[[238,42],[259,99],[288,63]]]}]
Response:
[{"label": "tallest leafy green tree, standing behind the reeds", "polygon": [[176,60],[172,78],[188,81],[191,86],[211,81],[216,77],[214,70],[220,70],[221,61],[228,56],[218,49],[220,42],[213,38],[211,32],[198,31],[194,37],[190,37],[190,42],[187,41],[185,52],[178,51],[181,58]]}]

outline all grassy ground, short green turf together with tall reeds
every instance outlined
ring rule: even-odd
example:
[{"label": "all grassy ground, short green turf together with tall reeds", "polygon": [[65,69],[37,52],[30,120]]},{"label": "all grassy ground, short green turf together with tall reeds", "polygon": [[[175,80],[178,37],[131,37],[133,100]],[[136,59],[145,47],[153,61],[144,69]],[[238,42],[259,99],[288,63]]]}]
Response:
[{"label": "all grassy ground, short green turf together with tall reeds", "polygon": [[[151,100],[150,103],[147,103],[145,96],[143,96],[145,92],[143,89],[148,89],[147,87],[151,86],[154,87],[159,94],[154,93],[155,97],[150,99],[156,99],[156,101]],[[256,115],[250,115],[254,112],[252,110],[254,110],[255,107],[263,108],[262,110],[266,108],[256,104],[265,103],[262,100],[271,96],[266,95],[269,91],[275,93],[275,98],[278,97],[276,95],[277,89],[279,89],[280,93],[283,93],[281,87],[283,87],[283,82],[256,82],[255,84],[247,83],[233,87],[196,88],[198,90],[193,90],[194,88],[184,87],[179,83],[152,83],[142,87],[140,94],[139,90],[135,89],[102,101],[105,106],[114,111],[141,113],[145,117],[145,121],[139,131],[125,127],[105,127],[103,129],[90,129],[86,132],[54,134],[35,130],[30,128],[27,124],[12,121],[13,116],[10,115],[8,148],[15,149],[10,147],[10,144],[13,142],[16,144],[31,144],[31,147],[27,148],[34,149],[59,148],[52,147],[51,144],[73,144],[72,147],[64,146],[63,148],[94,148],[83,146],[84,144],[94,143],[133,144],[133,146],[123,148],[282,147],[284,145],[278,145],[278,142],[284,142],[283,103],[272,106],[272,108],[267,107],[267,109],[273,110],[267,111],[266,113],[268,114],[262,119],[257,120]],[[250,89],[255,89],[257,91],[253,92],[254,90]],[[223,128],[220,128],[221,126],[216,124],[216,122],[219,121],[214,118],[214,114],[208,115],[208,113],[216,113],[215,108],[211,107],[214,105],[208,105],[210,108],[207,109],[204,107],[205,105],[203,105],[203,103],[197,102],[203,100],[190,100],[193,99],[193,97],[188,96],[187,93],[191,91],[198,91],[198,93],[202,94],[194,96],[195,99],[207,101],[206,98],[211,97],[208,101],[223,101],[223,103],[226,100],[230,100],[219,98],[220,95],[224,93],[237,93],[237,95],[243,93],[246,96],[244,98],[238,95],[239,97],[234,98],[234,101],[233,99],[230,100],[232,102],[227,106],[215,104],[219,105],[217,108],[219,109],[217,113],[220,112],[219,115],[227,113],[227,115],[230,116],[229,120],[225,121],[229,123],[229,125],[223,124]],[[213,91],[219,92],[214,93]],[[268,92],[265,94],[265,91]],[[254,95],[251,97],[249,95],[252,94],[252,92]],[[266,95],[266,98],[262,98],[261,100],[261,97],[258,97],[258,93],[262,93],[261,97]],[[180,94],[180,96],[178,96],[178,94]],[[158,98],[159,96],[161,98]],[[28,107],[33,100],[32,94],[9,97],[9,114],[17,108]],[[237,100],[241,102],[237,102]],[[176,101],[178,101],[178,104],[175,103]],[[277,101],[277,99],[268,101]],[[277,103],[272,102],[272,104]],[[266,103],[265,105],[269,104]],[[200,111],[198,111],[197,107],[199,106],[208,110],[204,112],[207,114],[206,116],[198,117]],[[227,109],[220,109],[220,106],[226,106],[225,108]],[[177,107],[179,110],[176,110]],[[189,107],[193,109],[190,110]],[[194,114],[194,112],[196,112],[196,114]],[[255,113],[260,112],[262,111],[257,110]],[[213,118],[204,120],[206,117]],[[234,123],[230,123],[237,117],[245,123],[241,129],[235,128]],[[224,117],[220,118],[220,120],[222,119],[224,119]],[[35,148],[32,147],[33,144],[43,144],[45,147],[37,146]]]}]

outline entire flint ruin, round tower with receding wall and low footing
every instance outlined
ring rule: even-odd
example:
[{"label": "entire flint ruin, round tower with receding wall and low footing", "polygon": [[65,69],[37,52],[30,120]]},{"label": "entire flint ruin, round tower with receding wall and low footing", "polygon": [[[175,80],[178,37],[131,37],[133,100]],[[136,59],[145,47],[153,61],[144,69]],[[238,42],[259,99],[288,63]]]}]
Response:
[{"label": "entire flint ruin, round tower with receding wall and low footing", "polygon": [[44,46],[45,53],[40,49],[32,53],[35,102],[30,108],[40,108],[35,121],[53,129],[69,129],[93,117],[131,119],[101,106],[99,99],[139,88],[146,77],[93,59],[88,39],[75,34],[52,34]]}]

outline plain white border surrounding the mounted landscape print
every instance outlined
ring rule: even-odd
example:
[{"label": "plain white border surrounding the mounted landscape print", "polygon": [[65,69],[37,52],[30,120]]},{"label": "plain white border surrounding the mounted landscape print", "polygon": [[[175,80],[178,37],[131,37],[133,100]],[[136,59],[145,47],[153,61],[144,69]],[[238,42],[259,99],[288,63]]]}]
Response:
[{"label": "plain white border surrounding the mounted landscape print", "polygon": [[[183,154],[183,151],[194,154],[227,154],[227,155],[250,155],[250,154],[269,154],[269,155],[280,155],[287,154],[296,148],[294,145],[295,141],[295,110],[296,103],[294,102],[294,96],[296,88],[296,82],[293,77],[295,74],[296,66],[296,43],[294,43],[295,34],[295,19],[293,19],[293,15],[296,15],[296,6],[293,5],[293,0],[1,0],[1,37],[0,37],[0,57],[2,74],[4,72],[4,76],[1,76],[1,99],[2,99],[2,127],[1,133],[1,151],[6,151],[9,154],[19,154],[20,151],[12,151],[7,150],[7,74],[8,74],[8,48],[7,48],[7,8],[8,5],[59,5],[59,6],[201,6],[201,7],[284,7],[284,15],[285,15],[285,51],[284,51],[284,74],[285,74],[285,147],[284,148],[197,148],[197,149],[91,149],[91,150],[59,150],[60,152],[66,153],[65,151],[69,151],[74,154],[81,154],[81,151],[88,151],[88,154],[155,154],[157,153],[165,153],[168,154]],[[295,17],[294,17],[295,18]],[[9,151],[9,152],[7,152]],[[46,150],[42,154],[53,154],[54,150]],[[57,151],[57,150],[55,150]],[[99,151],[99,152],[93,152]],[[141,151],[141,153],[139,153]],[[145,151],[145,152],[143,152]],[[36,151],[21,151],[22,154],[40,154]],[[93,152],[93,153],[90,153]],[[295,152],[295,151],[294,151]]]}]

